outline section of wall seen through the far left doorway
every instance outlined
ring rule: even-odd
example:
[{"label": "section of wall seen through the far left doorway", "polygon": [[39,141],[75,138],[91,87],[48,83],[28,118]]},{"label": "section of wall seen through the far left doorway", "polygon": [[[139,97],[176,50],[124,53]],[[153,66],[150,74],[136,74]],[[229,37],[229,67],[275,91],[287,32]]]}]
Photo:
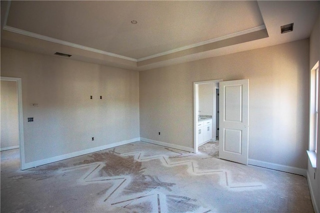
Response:
[{"label": "section of wall seen through the far left doorway", "polygon": [[1,80],[1,143],[0,150],[18,148],[18,102],[16,82]]}]

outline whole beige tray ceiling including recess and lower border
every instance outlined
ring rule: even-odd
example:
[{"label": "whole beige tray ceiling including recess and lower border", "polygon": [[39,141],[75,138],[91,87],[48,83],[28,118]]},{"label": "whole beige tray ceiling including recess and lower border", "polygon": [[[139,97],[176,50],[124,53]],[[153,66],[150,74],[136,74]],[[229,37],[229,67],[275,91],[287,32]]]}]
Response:
[{"label": "whole beige tray ceiling including recess and lower border", "polygon": [[318,1],[1,1],[1,46],[148,68],[306,38],[318,11]]}]

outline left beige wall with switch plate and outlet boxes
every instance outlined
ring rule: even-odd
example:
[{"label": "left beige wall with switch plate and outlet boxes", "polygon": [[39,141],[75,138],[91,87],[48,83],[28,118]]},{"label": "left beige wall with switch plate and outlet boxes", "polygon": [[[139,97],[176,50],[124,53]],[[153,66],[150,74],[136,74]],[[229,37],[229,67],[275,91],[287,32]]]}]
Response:
[{"label": "left beige wall with switch plate and outlet boxes", "polygon": [[1,47],[1,76],[22,79],[26,163],[139,137],[136,71]]}]

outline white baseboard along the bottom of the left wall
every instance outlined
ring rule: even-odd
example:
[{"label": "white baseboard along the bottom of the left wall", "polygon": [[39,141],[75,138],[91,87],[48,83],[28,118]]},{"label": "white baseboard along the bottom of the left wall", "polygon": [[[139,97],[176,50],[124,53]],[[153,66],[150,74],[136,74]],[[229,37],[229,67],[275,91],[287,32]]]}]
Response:
[{"label": "white baseboard along the bottom of the left wall", "polygon": [[119,146],[119,145],[125,145],[131,142],[135,142],[135,141],[139,141],[140,138],[136,137],[136,138],[132,138],[129,140],[123,140],[123,141],[119,141],[119,142],[115,142],[115,143],[111,143],[111,144],[107,144],[107,145],[102,145],[102,146],[97,146],[94,148],[89,148],[89,149],[85,149],[85,150],[81,150],[81,151],[75,151],[72,153],[67,153],[67,154],[62,154],[59,156],[54,156],[54,157],[49,157],[49,158],[45,158],[45,159],[41,159],[41,160],[37,160],[37,161],[32,161],[32,162],[27,162],[27,163],[22,163],[22,170],[27,169],[27,168],[32,168],[35,166],[40,166],[40,165],[44,165],[47,163],[51,163],[51,162],[56,162],[59,160],[64,160],[64,159],[68,159],[71,157],[76,157],[76,156],[80,156],[83,154],[88,154],[88,153],[92,153],[95,151],[100,151],[103,149],[107,149],[107,148],[113,148],[115,146]]}]

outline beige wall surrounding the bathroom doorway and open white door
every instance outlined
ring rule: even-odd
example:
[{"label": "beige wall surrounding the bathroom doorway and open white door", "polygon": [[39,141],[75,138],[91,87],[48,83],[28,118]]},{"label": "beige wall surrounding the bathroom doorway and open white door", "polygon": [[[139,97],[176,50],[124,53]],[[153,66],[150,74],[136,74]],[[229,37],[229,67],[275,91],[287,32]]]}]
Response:
[{"label": "beige wall surrounding the bathroom doorway and open white door", "polygon": [[193,147],[193,82],[248,78],[249,158],[306,169],[308,60],[303,39],[141,71],[140,137]]}]

